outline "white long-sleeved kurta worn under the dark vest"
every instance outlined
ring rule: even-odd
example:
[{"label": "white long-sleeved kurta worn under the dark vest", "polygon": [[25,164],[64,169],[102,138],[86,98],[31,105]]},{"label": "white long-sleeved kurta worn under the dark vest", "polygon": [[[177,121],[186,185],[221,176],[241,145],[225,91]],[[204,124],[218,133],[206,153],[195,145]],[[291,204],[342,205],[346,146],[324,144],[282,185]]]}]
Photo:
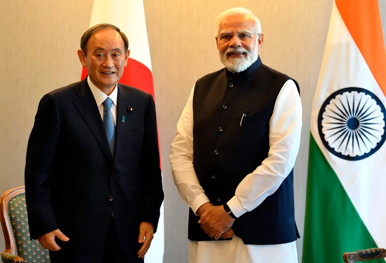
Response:
[{"label": "white long-sleeved kurta worn under the dark vest", "polygon": [[[193,167],[193,94],[190,93],[177,124],[171,145],[170,163],[174,183],[193,212],[209,202]],[[227,204],[236,217],[252,211],[273,194],[295,165],[299,152],[302,124],[300,95],[292,80],[284,83],[269,122],[269,153],[262,164],[237,186]],[[198,219],[198,217],[197,217]],[[276,245],[245,245],[236,236],[232,240],[189,241],[190,263],[295,263],[295,241]]]}]

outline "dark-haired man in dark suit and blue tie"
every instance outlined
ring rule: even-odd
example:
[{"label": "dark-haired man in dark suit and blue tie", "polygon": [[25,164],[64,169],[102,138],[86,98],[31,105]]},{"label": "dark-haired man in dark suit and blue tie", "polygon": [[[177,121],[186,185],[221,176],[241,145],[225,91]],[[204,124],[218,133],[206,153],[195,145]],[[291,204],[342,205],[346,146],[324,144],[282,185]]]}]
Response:
[{"label": "dark-haired man in dark suit and blue tie", "polygon": [[25,164],[32,239],[52,263],[143,262],[163,201],[152,96],[119,84],[128,40],[99,24],[81,38],[88,77],[40,101]]}]

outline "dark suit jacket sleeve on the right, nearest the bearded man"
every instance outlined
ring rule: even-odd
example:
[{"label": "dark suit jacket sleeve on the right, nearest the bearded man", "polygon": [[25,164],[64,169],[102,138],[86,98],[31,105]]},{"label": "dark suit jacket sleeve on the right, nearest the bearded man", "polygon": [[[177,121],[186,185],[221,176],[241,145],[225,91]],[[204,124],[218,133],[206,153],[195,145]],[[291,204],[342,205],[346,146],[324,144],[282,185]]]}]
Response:
[{"label": "dark suit jacket sleeve on the right, nearest the bearded man", "polygon": [[149,107],[145,119],[145,132],[141,156],[141,221],[154,226],[154,233],[164,199],[157,133],[156,106],[149,95]]}]

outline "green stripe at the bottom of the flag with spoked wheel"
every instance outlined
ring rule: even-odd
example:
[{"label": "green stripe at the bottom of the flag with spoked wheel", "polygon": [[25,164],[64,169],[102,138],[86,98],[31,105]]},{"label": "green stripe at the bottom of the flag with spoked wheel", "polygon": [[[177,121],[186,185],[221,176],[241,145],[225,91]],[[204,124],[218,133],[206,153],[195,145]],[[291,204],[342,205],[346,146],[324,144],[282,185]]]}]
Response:
[{"label": "green stripe at the bottom of the flag with spoked wheel", "polygon": [[[374,247],[369,231],[311,134],[302,262],[342,263],[344,252]],[[370,262],[384,263],[381,259]]]}]

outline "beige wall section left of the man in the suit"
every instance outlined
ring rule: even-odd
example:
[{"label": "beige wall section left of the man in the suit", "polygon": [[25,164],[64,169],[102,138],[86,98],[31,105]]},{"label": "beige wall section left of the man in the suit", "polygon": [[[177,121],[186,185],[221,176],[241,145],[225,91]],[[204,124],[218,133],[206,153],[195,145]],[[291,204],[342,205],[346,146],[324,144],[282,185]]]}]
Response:
[{"label": "beige wall section left of the man in the suit", "polygon": [[1,1],[1,193],[24,185],[25,151],[39,100],[80,80],[76,51],[90,23],[91,6],[92,0]]}]

